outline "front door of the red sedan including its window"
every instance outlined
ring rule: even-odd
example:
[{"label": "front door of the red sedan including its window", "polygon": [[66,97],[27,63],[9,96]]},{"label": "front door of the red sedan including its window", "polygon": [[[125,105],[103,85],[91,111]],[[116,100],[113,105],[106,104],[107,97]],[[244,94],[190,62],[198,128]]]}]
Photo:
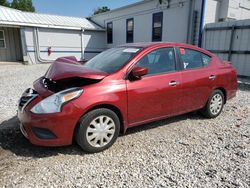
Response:
[{"label": "front door of the red sedan including its window", "polygon": [[126,80],[130,126],[179,110],[181,73],[175,59],[174,48],[159,48],[137,62],[135,66],[147,67],[149,72],[141,79]]}]

